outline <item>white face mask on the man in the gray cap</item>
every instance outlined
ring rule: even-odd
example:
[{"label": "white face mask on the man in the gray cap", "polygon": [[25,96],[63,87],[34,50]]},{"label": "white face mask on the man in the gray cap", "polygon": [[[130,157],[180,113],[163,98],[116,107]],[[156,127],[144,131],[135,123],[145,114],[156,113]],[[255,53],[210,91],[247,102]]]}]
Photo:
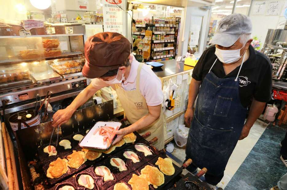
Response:
[{"label": "white face mask on the man in the gray cap", "polygon": [[[245,44],[243,47],[245,47]],[[221,61],[222,63],[226,63],[226,64],[234,63],[238,61],[244,55],[245,51],[240,56],[240,50],[242,48],[235,49],[235,50],[222,50],[222,49],[215,47],[215,55],[217,56],[219,61]]]}]

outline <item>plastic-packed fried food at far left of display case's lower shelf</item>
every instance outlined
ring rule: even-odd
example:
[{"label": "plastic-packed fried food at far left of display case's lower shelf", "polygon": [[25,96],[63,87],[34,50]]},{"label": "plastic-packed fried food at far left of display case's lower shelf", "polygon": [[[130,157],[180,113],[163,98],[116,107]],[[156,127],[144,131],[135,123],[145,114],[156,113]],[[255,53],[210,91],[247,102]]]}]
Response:
[{"label": "plastic-packed fried food at far left of display case's lower shelf", "polygon": [[12,82],[12,81],[20,81],[23,79],[29,79],[30,72],[28,69],[8,69],[8,70],[0,70],[0,83],[4,82]]}]

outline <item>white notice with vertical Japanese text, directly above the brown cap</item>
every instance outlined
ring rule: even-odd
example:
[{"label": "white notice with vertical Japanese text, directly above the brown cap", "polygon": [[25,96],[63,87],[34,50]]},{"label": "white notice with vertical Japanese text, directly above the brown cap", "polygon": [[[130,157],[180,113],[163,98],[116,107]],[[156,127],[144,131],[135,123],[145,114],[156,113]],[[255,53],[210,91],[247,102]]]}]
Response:
[{"label": "white notice with vertical Japanese text, directly above the brown cap", "polygon": [[[104,32],[117,32],[123,34],[122,0],[104,0],[103,17]],[[119,7],[120,6],[120,7]]]}]

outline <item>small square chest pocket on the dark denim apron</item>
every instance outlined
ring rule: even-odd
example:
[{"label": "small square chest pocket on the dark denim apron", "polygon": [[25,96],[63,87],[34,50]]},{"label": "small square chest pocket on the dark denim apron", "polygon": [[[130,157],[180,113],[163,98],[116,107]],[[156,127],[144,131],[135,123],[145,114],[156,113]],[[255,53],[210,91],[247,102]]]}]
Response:
[{"label": "small square chest pocket on the dark denim apron", "polygon": [[231,102],[232,98],[218,96],[213,115],[227,117]]}]

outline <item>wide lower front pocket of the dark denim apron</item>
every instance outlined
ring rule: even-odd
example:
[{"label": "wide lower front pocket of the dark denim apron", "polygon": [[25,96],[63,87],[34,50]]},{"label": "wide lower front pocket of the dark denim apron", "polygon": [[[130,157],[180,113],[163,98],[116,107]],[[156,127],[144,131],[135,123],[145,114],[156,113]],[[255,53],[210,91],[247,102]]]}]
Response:
[{"label": "wide lower front pocket of the dark denim apron", "polygon": [[218,153],[225,154],[230,146],[232,130],[212,129],[202,125],[196,117],[194,117],[190,135],[197,141],[202,148],[212,149]]}]

